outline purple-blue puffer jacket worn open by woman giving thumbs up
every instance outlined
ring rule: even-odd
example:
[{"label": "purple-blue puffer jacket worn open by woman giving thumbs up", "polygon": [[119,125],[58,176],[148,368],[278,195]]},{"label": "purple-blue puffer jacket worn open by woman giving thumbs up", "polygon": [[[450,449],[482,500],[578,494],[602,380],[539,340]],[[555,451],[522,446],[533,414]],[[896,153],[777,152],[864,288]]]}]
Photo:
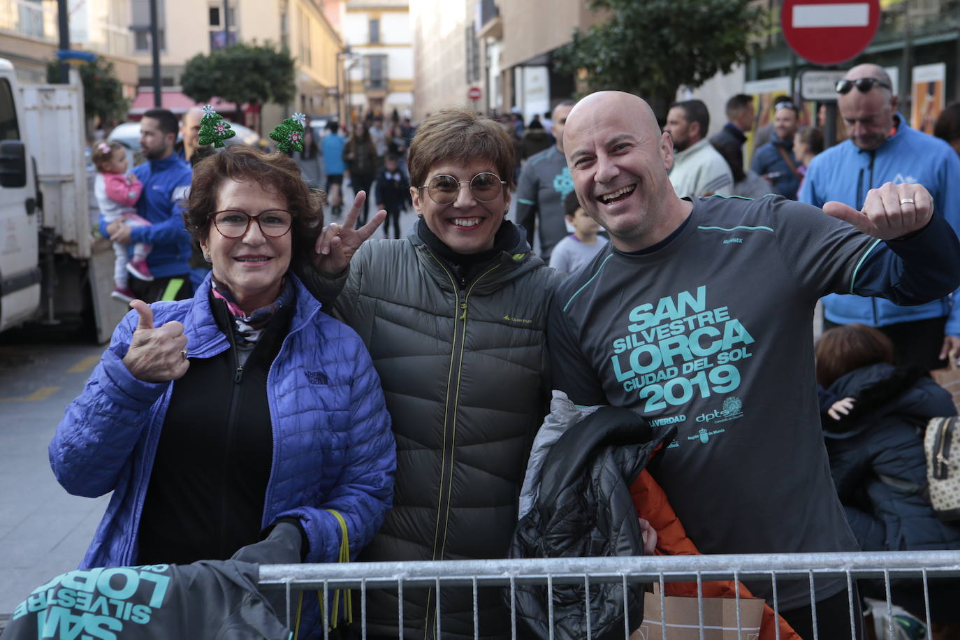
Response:
[{"label": "purple-blue puffer jacket worn open by woman giving thumbs up", "polygon": [[[347,325],[321,313],[320,303],[292,273],[297,309],[267,377],[274,462],[262,526],[300,519],[307,562],[336,562],[338,510],[347,521],[350,557],[366,546],[390,510],[396,442],[370,354]],[[155,326],[180,320],[190,358],[229,348],[209,303],[210,276],[197,296],[151,305]],[[156,444],[174,385],[134,378],[122,358],[137,314],[113,331],[84,392],[66,408],[50,443],[50,463],[72,494],[113,491],[82,569],[131,565]]]}]

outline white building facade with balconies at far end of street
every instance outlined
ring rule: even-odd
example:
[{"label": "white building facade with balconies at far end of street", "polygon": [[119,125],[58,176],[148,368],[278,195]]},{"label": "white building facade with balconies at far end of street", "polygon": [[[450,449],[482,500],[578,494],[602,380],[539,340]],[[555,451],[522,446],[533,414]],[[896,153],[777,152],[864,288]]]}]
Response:
[{"label": "white building facade with balconies at far end of street", "polygon": [[406,0],[347,0],[343,71],[349,119],[372,113],[411,115],[414,100],[413,40]]}]

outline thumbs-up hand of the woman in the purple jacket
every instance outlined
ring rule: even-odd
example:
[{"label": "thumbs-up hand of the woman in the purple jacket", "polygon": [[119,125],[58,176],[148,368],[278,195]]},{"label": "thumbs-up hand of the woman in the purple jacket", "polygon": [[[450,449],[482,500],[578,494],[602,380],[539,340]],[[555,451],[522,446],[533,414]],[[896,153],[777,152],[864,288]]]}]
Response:
[{"label": "thumbs-up hand of the woman in the purple jacket", "polygon": [[183,325],[171,320],[155,328],[154,312],[146,302],[133,300],[130,306],[139,319],[123,364],[134,378],[144,382],[170,382],[183,377],[190,368]]}]

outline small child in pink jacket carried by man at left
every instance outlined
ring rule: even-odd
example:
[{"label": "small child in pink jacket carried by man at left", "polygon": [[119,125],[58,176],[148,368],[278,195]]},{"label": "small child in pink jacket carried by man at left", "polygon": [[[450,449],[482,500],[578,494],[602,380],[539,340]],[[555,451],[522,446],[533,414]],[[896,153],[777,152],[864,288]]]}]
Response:
[{"label": "small child in pink jacket carried by man at left", "polygon": [[[93,164],[97,169],[97,178],[94,182],[94,195],[100,206],[100,213],[107,223],[122,219],[126,225],[142,226],[150,223],[136,215],[133,207],[140,198],[143,183],[133,174],[127,173],[127,150],[117,142],[98,142],[93,146],[91,154]],[[128,273],[141,280],[153,280],[147,268],[147,254],[151,247],[143,243],[133,245],[133,257],[128,257],[126,245],[113,243],[116,261],[113,263],[114,288],[110,296],[130,302],[133,293],[128,287]]]}]

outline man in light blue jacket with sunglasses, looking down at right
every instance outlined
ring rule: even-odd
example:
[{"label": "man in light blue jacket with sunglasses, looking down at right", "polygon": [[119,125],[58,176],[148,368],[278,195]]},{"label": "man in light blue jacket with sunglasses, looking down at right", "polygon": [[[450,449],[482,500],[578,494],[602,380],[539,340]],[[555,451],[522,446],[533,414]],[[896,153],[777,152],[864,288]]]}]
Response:
[{"label": "man in light blue jacket with sunglasses, looking down at right", "polygon": [[[860,208],[867,192],[884,182],[920,183],[933,196],[935,214],[960,229],[960,158],[943,140],[907,125],[892,86],[876,64],[859,64],[837,83],[850,138],[813,158],[800,200]],[[894,342],[901,365],[930,369],[943,367],[948,353],[960,348],[960,310],[951,297],[897,306],[878,297],[831,294],[824,298],[824,310],[828,326],[876,326]]]}]

